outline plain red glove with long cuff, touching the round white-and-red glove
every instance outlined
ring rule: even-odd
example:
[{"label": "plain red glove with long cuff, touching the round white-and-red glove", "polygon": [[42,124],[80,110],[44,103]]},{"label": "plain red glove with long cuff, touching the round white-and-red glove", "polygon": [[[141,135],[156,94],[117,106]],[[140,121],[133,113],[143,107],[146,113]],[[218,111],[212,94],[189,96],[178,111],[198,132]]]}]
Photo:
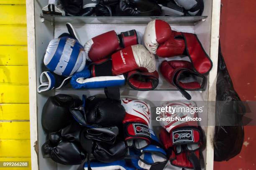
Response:
[{"label": "plain red glove with long cuff, touching the round white-and-red glove", "polygon": [[156,50],[159,57],[186,55],[189,57],[193,70],[199,74],[208,74],[212,69],[212,61],[202,47],[197,35],[187,32],[175,32]]}]

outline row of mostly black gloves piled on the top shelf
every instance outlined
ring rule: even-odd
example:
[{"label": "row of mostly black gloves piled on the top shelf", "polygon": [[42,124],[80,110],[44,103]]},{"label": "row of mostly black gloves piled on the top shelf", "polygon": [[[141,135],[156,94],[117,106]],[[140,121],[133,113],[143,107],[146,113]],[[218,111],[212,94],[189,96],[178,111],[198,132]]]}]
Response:
[{"label": "row of mostly black gloves piled on the top shelf", "polygon": [[176,16],[202,15],[202,0],[49,0],[45,15]]}]

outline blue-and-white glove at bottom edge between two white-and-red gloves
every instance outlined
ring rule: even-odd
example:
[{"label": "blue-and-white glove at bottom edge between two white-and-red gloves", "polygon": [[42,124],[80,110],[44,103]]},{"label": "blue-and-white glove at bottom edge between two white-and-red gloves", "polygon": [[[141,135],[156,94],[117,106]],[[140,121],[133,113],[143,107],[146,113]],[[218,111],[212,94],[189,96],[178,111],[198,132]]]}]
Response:
[{"label": "blue-and-white glove at bottom edge between two white-and-red gloves", "polygon": [[[159,139],[150,129],[151,144],[141,150],[129,150],[132,158],[132,163],[137,169],[145,170],[160,170],[167,163],[166,152],[162,148]],[[137,155],[137,158],[136,158]],[[134,158],[135,157],[135,158]],[[139,168],[138,168],[139,167]]]}]

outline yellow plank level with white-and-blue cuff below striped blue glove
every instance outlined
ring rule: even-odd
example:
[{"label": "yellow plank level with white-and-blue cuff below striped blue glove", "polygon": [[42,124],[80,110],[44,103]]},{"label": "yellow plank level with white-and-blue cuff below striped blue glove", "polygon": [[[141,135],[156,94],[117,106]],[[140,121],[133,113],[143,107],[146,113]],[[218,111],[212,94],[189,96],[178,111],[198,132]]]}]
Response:
[{"label": "yellow plank level with white-and-blue cuff below striped blue glove", "polygon": [[0,82],[28,85],[28,66],[0,65]]}]

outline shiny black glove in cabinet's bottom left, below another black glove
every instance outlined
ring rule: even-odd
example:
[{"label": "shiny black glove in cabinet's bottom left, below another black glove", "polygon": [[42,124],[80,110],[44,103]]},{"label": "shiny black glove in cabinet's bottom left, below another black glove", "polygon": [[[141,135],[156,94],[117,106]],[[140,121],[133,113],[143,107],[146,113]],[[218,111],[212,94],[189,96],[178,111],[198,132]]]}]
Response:
[{"label": "shiny black glove in cabinet's bottom left, below another black glove", "polygon": [[42,145],[42,153],[56,163],[64,165],[79,165],[86,158],[82,151],[79,136],[82,128],[73,123],[59,132],[49,133],[48,139]]}]

